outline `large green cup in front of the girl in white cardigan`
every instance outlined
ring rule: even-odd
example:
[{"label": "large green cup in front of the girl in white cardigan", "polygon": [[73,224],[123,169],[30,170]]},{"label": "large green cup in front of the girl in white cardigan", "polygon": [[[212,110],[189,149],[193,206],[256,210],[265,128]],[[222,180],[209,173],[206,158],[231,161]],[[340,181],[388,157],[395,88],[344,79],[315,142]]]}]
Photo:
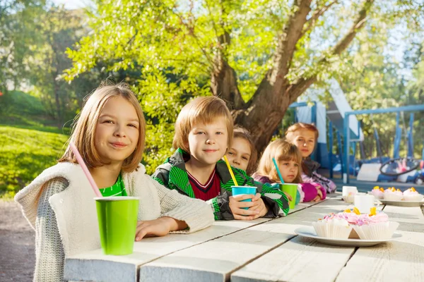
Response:
[{"label": "large green cup in front of the girl in white cardigan", "polygon": [[138,197],[94,198],[105,255],[129,255],[136,238]]}]

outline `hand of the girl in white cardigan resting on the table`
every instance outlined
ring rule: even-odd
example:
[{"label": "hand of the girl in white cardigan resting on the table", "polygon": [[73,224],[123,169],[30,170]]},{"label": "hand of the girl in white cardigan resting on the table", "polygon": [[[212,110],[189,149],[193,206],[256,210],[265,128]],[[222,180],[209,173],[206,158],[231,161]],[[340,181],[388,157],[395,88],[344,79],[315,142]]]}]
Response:
[{"label": "hand of the girl in white cardigan resting on the table", "polygon": [[187,223],[172,219],[172,217],[160,217],[151,221],[138,221],[136,228],[136,241],[143,237],[164,236],[170,231],[187,228]]}]

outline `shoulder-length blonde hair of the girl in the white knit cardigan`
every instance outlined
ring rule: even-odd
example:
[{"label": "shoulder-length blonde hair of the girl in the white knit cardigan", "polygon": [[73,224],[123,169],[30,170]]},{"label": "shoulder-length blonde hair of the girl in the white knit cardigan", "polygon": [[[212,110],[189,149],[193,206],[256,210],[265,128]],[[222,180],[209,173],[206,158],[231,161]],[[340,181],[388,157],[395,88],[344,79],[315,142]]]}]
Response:
[{"label": "shoulder-length blonde hair of the girl in the white knit cardigan", "polygon": [[[100,159],[100,154],[95,148],[95,130],[98,124],[99,116],[103,107],[113,97],[122,97],[134,106],[137,117],[139,118],[139,140],[134,152],[124,160],[122,171],[134,171],[141,159],[143,158],[143,150],[145,145],[146,121],[144,120],[143,110],[136,98],[134,92],[124,83],[117,85],[100,85],[98,89],[90,95],[81,110],[81,113],[76,116],[76,123],[72,128],[71,140],[78,151],[81,153],[88,168],[104,166],[107,163]],[[77,164],[76,157],[73,155],[71,147],[67,147],[64,155],[59,159],[59,162],[69,161]]]}]

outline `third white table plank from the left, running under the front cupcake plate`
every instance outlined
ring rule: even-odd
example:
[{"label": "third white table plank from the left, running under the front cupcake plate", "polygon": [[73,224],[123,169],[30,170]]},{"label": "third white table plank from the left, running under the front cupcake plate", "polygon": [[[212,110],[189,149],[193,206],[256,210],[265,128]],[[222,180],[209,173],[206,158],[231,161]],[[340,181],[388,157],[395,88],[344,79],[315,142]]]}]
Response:
[{"label": "third white table plank from the left, running under the front cupcake plate", "polygon": [[[351,206],[346,202],[333,198],[299,213],[303,218],[293,221],[289,218],[291,222],[286,225],[294,232],[300,227],[296,221],[311,226],[319,217],[348,207]],[[334,281],[354,250],[354,247],[334,247],[298,236],[235,271],[231,281]]]}]

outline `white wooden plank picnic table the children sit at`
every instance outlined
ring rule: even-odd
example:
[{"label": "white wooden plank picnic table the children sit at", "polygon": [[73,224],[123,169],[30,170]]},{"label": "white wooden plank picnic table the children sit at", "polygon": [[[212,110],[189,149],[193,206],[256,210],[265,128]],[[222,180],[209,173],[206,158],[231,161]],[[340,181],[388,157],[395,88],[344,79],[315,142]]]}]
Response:
[{"label": "white wooden plank picnic table the children sit at", "polygon": [[69,281],[424,281],[424,216],[420,207],[381,208],[402,237],[373,247],[337,247],[295,229],[351,207],[336,195],[298,204],[279,219],[216,221],[189,235],[134,243],[126,256],[93,250],[68,257]]}]

